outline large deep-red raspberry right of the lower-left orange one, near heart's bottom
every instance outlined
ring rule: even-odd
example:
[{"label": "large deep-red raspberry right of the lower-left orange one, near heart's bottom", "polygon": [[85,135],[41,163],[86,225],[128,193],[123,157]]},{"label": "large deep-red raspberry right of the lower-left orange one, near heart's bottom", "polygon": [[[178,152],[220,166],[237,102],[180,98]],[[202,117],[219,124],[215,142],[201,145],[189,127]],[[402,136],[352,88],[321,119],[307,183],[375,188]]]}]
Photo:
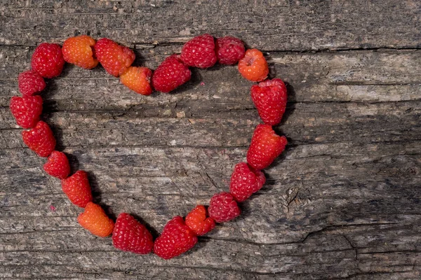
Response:
[{"label": "large deep-red raspberry right of the lower-left orange one, near heart's bottom", "polygon": [[145,225],[129,214],[121,213],[112,232],[112,244],[122,251],[144,255],[152,252],[154,240]]}]

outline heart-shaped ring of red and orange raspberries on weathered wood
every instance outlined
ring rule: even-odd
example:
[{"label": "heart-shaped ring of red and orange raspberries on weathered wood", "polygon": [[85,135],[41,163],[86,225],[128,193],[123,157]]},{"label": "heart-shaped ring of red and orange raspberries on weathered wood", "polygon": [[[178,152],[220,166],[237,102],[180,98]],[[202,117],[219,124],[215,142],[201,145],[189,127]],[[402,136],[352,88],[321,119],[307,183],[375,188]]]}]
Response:
[{"label": "heart-shaped ring of red and orange raspberries on weathered wood", "polygon": [[[133,253],[154,251],[164,259],[185,253],[197,243],[197,237],[240,215],[237,202],[243,202],[265,184],[262,169],[269,167],[285,149],[286,137],[280,137],[272,125],[281,122],[286,109],[286,86],[279,78],[266,79],[267,61],[257,49],[246,50],[238,38],[213,38],[203,34],[192,38],[182,47],[180,55],[167,57],[152,73],[150,69],[132,66],[135,53],[109,38],[95,41],[90,36],[68,38],[58,44],[42,43],[32,55],[32,69],[20,73],[19,90],[22,97],[12,97],[10,109],[22,131],[25,144],[40,157],[47,158],[44,170],[61,180],[62,190],[74,205],[83,208],[79,224],[99,237],[112,235],[116,248]],[[38,95],[46,87],[44,78],[59,76],[65,62],[84,69],[101,64],[121,83],[140,94],[149,95],[153,89],[171,92],[192,76],[189,67],[201,69],[220,64],[238,63],[241,76],[253,82],[251,98],[265,124],[258,125],[247,152],[247,162],[234,167],[229,193],[222,192],[210,199],[208,207],[198,205],[183,219],[176,216],[169,221],[154,241],[151,233],[127,213],[121,213],[115,223],[100,205],[93,202],[88,174],[78,170],[71,174],[65,153],[55,151],[55,137],[47,123],[40,120],[42,98]]]}]

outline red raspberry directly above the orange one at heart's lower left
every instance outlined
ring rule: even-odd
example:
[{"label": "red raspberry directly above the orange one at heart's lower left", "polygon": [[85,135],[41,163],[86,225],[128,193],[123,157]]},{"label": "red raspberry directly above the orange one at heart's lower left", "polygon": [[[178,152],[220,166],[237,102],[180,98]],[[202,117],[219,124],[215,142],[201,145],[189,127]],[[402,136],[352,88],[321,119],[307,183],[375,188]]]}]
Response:
[{"label": "red raspberry directly above the orange one at heart's lower left", "polygon": [[82,170],[77,171],[67,179],[63,179],[62,190],[76,206],[84,208],[88,202],[92,201],[88,174]]}]

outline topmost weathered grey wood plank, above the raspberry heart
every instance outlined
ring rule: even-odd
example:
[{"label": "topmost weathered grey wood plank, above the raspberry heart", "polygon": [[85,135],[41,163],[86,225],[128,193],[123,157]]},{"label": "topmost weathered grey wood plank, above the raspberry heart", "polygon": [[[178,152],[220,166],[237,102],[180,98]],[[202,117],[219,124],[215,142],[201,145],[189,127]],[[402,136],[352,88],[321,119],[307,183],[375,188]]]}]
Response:
[{"label": "topmost weathered grey wood plank, above the raspberry heart", "polygon": [[420,47],[416,0],[4,2],[5,45],[62,42],[80,33],[150,45],[211,32],[263,50]]}]

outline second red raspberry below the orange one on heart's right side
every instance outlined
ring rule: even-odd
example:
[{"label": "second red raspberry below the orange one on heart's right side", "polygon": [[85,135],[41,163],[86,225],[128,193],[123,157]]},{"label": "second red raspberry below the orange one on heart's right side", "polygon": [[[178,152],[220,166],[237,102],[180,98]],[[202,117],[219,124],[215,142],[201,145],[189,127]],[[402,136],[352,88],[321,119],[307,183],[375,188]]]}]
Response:
[{"label": "second red raspberry below the orange one on heart's right side", "polygon": [[276,135],[270,125],[258,125],[251,137],[247,162],[254,169],[265,169],[281,155],[286,144],[286,137]]}]

